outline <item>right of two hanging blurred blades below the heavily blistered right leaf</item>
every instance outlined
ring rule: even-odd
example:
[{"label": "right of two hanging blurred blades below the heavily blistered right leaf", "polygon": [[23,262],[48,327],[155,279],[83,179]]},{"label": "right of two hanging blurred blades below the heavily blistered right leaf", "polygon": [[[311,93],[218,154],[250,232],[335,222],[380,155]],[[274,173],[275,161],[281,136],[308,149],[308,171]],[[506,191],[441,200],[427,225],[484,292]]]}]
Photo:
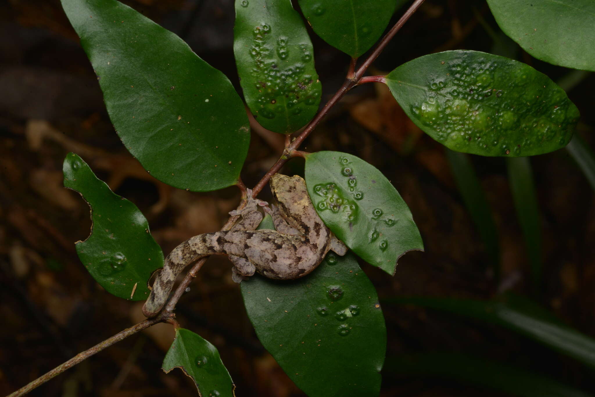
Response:
[{"label": "right of two hanging blurred blades below the heavily blistered right leaf", "polygon": [[541,227],[531,162],[527,157],[507,158],[508,180],[531,264],[533,289],[541,289]]}]

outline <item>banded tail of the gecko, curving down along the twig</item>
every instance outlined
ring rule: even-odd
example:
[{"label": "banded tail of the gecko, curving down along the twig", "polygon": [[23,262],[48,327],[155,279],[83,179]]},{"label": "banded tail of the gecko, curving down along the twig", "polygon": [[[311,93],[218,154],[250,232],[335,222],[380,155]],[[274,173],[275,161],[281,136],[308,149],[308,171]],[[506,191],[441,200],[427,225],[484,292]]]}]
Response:
[{"label": "banded tail of the gecko, curving down along the twig", "polygon": [[146,317],[155,317],[161,311],[165,302],[167,302],[168,296],[170,296],[176,278],[186,265],[207,255],[223,253],[220,252],[221,249],[217,245],[214,246],[209,243],[221,233],[205,233],[204,235],[194,236],[181,243],[170,252],[170,255],[167,255],[161,273],[155,278],[151,295],[143,305],[143,314]]}]

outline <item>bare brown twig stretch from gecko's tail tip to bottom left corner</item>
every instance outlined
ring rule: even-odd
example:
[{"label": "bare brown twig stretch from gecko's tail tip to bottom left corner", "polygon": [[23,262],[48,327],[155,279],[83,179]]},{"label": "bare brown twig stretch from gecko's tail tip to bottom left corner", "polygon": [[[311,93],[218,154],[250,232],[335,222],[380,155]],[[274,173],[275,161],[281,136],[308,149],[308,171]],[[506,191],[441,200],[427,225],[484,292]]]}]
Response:
[{"label": "bare brown twig stretch from gecko's tail tip to bottom left corner", "polygon": [[52,379],[53,377],[61,374],[68,368],[74,367],[74,365],[79,364],[79,362],[86,360],[87,358],[91,357],[92,355],[101,352],[103,349],[113,345],[116,342],[120,342],[120,340],[129,337],[130,335],[134,335],[135,333],[142,331],[148,327],[156,323],[161,323],[162,321],[167,321],[168,318],[173,317],[173,314],[159,314],[157,317],[154,318],[147,318],[145,321],[142,321],[135,326],[127,328],[122,332],[117,333],[116,335],[105,339],[103,342],[98,343],[97,345],[93,346],[90,349],[87,349],[84,352],[80,352],[70,360],[58,365],[53,370],[49,371],[48,373],[43,374],[42,376],[38,377],[33,382],[29,383],[29,385],[21,387],[16,392],[11,393],[7,397],[18,397],[29,393],[31,390],[35,389],[36,387],[43,385],[43,383],[48,382],[48,380]]}]

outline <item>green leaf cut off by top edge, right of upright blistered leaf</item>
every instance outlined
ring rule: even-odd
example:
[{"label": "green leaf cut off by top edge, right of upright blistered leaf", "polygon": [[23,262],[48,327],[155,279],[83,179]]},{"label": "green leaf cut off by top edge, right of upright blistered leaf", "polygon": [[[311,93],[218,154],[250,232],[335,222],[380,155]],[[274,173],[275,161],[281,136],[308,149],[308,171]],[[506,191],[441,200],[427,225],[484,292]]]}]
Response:
[{"label": "green leaf cut off by top edge, right of upright blistered leaf", "polygon": [[357,58],[374,45],[396,8],[406,1],[299,0],[299,5],[318,36]]}]

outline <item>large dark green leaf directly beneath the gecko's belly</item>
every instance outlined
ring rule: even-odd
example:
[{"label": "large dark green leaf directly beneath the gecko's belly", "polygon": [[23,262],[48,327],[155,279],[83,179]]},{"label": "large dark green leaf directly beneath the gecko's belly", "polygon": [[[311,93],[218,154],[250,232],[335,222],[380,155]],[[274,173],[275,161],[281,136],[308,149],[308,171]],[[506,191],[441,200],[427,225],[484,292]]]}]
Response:
[{"label": "large dark green leaf directly beneath the gecko's belly", "polygon": [[329,252],[311,274],[241,284],[262,345],[308,396],[375,396],[386,327],[374,286],[353,254]]}]

